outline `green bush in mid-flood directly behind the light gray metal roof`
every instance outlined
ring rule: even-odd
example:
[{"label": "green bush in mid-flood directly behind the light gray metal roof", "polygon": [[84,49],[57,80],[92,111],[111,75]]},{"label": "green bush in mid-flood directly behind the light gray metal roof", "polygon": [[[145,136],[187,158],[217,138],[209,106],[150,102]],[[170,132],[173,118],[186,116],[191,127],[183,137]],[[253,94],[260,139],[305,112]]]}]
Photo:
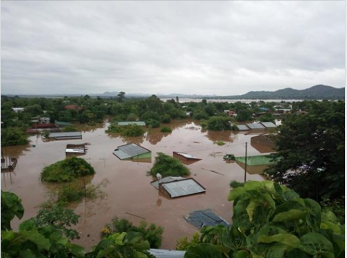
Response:
[{"label": "green bush in mid-flood directly behind the light gray metal roof", "polygon": [[162,178],[165,178],[167,176],[189,175],[190,171],[187,166],[180,162],[180,160],[158,152],[156,161],[148,174],[155,177],[157,173],[160,173]]}]

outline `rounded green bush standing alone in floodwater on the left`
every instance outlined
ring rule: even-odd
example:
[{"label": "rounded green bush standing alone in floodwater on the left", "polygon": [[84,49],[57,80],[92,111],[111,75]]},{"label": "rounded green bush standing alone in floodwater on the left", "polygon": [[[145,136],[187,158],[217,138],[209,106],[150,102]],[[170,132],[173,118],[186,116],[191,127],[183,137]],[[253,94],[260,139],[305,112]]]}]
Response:
[{"label": "rounded green bush standing alone in floodwater on the left", "polygon": [[83,158],[71,157],[50,166],[46,166],[41,173],[41,180],[45,182],[70,182],[85,175],[94,175],[93,167]]}]

